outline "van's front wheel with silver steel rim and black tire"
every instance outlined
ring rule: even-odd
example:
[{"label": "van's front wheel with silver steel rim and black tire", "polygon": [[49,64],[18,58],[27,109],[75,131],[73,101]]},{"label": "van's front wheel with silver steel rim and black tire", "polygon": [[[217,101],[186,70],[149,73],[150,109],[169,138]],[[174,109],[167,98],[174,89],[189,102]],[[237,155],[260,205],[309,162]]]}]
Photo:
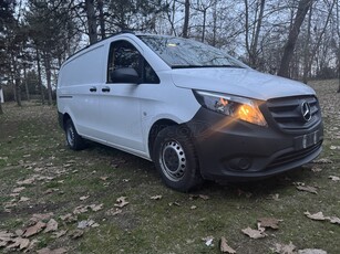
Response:
[{"label": "van's front wheel with silver steel rim and black tire", "polygon": [[169,126],[158,133],[153,159],[164,183],[174,190],[187,192],[203,183],[195,147],[183,127]]}]

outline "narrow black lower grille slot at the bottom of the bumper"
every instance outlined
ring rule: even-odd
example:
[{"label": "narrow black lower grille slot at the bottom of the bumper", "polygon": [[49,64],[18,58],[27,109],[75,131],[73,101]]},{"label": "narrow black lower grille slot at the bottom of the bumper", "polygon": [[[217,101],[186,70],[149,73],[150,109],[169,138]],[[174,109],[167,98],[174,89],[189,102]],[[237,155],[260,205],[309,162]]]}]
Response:
[{"label": "narrow black lower grille slot at the bottom of the bumper", "polygon": [[288,154],[285,154],[282,156],[279,156],[278,158],[276,158],[274,161],[271,161],[270,165],[267,166],[267,169],[271,169],[271,168],[276,168],[279,167],[281,165],[286,165],[289,162],[293,162],[297,160],[300,160],[309,155],[312,155],[315,151],[317,151],[322,145],[322,141],[319,141],[318,144],[308,147],[306,149],[302,150],[298,150],[298,151],[291,151]]}]

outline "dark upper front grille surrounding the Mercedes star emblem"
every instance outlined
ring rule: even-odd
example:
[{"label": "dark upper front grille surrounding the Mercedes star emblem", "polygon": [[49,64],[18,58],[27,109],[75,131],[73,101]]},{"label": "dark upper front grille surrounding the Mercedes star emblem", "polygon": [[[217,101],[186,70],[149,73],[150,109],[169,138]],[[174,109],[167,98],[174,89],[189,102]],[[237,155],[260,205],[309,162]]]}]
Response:
[{"label": "dark upper front grille surrounding the Mercedes star emblem", "polygon": [[[311,118],[308,121],[302,115],[303,103],[310,106]],[[320,106],[316,96],[274,98],[269,99],[266,105],[274,121],[284,131],[307,130],[321,120]]]}]

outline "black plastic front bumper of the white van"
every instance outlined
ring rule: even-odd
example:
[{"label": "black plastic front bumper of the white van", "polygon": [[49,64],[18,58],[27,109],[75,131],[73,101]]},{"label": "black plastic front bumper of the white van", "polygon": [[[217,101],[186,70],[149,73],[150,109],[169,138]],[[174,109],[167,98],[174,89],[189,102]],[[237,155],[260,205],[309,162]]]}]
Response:
[{"label": "black plastic front bumper of the white van", "polygon": [[203,178],[248,181],[278,174],[310,162],[322,150],[320,120],[308,130],[288,134],[200,108],[186,123]]}]

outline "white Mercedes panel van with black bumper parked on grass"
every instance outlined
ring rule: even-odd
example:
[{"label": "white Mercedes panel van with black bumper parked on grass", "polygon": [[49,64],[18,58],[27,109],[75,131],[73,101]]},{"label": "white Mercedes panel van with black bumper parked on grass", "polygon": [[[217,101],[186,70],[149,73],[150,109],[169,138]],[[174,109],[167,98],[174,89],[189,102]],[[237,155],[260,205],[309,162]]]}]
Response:
[{"label": "white Mercedes panel van with black bumper parked on grass", "polygon": [[62,65],[56,96],[71,149],[90,139],[152,160],[179,191],[274,176],[322,149],[313,89],[183,38],[121,33],[95,43]]}]

